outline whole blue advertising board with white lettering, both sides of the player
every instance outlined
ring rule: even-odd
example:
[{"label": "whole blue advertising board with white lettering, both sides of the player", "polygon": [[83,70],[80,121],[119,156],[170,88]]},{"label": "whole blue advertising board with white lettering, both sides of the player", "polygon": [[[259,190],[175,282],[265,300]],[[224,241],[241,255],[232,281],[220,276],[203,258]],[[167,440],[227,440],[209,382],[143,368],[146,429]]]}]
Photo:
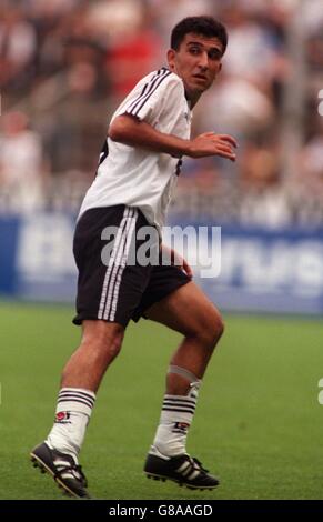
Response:
[{"label": "whole blue advertising board with white lettering, both sides of the player", "polygon": [[[0,218],[0,295],[72,302],[77,289],[74,221],[64,213]],[[186,224],[192,228],[191,222]],[[208,223],[195,222],[193,228],[199,230],[201,224]],[[208,230],[210,243],[211,227]],[[219,273],[201,277],[201,270],[194,272],[198,284],[220,309],[323,312],[323,230],[222,227],[216,255]]]}]

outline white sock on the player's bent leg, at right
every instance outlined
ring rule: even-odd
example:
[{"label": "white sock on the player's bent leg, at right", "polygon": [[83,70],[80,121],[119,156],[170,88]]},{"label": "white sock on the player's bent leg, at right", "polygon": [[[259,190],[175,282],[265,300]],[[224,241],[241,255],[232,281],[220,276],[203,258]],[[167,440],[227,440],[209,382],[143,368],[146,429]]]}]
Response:
[{"label": "white sock on the player's bent leg, at right", "polygon": [[198,389],[188,395],[164,395],[151,453],[174,456],[186,453],[186,436],[198,401]]}]

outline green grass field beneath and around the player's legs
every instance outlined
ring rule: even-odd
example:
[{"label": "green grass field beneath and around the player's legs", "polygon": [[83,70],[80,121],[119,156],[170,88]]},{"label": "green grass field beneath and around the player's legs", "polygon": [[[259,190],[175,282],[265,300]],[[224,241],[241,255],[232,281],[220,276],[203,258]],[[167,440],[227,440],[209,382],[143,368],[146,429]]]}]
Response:
[{"label": "green grass field beneath and around the player's legs", "polygon": [[[52,425],[60,371],[79,341],[72,312],[1,303],[0,499],[61,499],[28,455]],[[321,324],[234,315],[225,322],[188,443],[221,486],[192,492],[142,473],[179,335],[141,321],[105,375],[81,453],[94,498],[323,499]]]}]

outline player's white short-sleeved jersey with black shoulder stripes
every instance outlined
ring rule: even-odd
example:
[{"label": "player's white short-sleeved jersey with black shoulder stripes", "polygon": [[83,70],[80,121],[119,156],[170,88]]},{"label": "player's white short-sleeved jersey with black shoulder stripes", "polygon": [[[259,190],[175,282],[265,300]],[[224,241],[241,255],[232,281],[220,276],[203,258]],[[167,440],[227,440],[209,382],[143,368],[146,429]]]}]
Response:
[{"label": "player's white short-sleeved jersey with black shoulder stripes", "polygon": [[[160,132],[191,135],[191,111],[180,77],[166,68],[144,77],[112,116],[133,114]],[[180,170],[179,158],[107,139],[97,178],[79,217],[89,209],[127,204],[139,208],[159,231],[165,221]]]}]

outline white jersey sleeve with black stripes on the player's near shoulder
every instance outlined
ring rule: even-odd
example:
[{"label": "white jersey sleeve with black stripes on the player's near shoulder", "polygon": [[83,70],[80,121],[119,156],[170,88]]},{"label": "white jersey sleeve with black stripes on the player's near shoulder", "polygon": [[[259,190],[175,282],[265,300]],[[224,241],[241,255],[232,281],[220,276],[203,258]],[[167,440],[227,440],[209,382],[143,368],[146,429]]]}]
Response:
[{"label": "white jersey sleeve with black stripes on the player's near shoulder", "polygon": [[132,114],[150,124],[163,110],[178,107],[184,94],[182,80],[168,69],[159,70],[137,93],[130,93],[119,114]]}]

